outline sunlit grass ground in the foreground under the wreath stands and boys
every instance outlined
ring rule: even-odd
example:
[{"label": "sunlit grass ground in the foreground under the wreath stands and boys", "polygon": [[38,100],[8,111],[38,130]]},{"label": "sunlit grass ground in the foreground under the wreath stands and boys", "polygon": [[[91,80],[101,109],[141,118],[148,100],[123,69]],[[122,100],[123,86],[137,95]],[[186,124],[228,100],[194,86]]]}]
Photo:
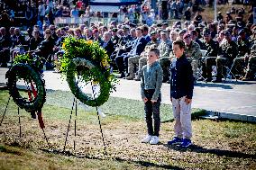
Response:
[{"label": "sunlit grass ground in the foreground under the wreath stands and boys", "polygon": [[[7,91],[1,90],[1,118],[7,100]],[[11,100],[0,127],[0,169],[254,169],[256,166],[255,124],[195,119],[194,145],[188,149],[170,147],[166,143],[174,135],[174,122],[170,106],[162,104],[161,111],[167,118],[161,123],[160,144],[151,146],[140,142],[146,134],[142,102],[122,98],[110,98],[101,107],[107,114],[101,119],[106,155],[96,112],[81,105],[76,119],[77,136],[73,113],[64,152],[70,101],[72,94],[47,93],[42,112],[50,141],[48,148],[38,121],[23,110],[22,138],[19,138],[17,106]]]}]

